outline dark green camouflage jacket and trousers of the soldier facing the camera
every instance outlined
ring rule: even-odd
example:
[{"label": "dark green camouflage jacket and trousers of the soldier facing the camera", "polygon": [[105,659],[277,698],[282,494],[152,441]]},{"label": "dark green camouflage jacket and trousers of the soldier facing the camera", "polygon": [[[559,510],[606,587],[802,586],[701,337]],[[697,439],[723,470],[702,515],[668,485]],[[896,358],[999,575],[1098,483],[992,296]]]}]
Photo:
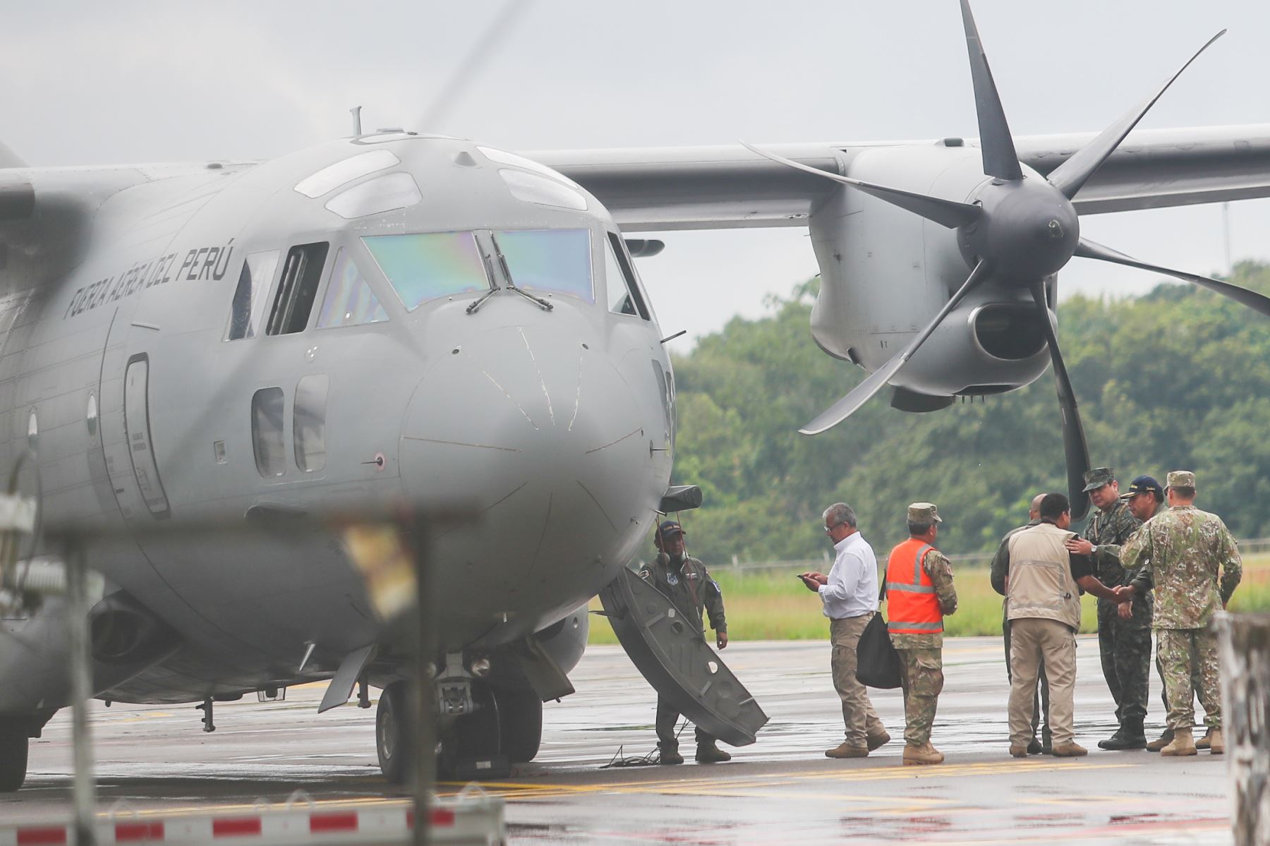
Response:
[{"label": "dark green camouflage jacket and trousers of the soldier facing the camera", "polygon": [[[1138,531],[1142,522],[1125,502],[1116,500],[1107,511],[1097,511],[1085,525],[1082,537],[1095,545],[1093,574],[1107,587],[1128,584],[1120,567],[1120,546]],[[1115,718],[1123,725],[1140,723],[1147,716],[1151,691],[1151,596],[1135,598],[1128,620],[1116,612],[1116,603],[1099,600],[1099,655],[1106,678]]]}]

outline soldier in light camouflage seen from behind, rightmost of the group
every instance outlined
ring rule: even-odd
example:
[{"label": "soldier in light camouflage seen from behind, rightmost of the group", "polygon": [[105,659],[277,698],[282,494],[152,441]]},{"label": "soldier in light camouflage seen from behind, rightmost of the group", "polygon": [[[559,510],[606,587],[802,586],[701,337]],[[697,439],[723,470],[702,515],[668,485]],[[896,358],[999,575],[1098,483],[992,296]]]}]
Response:
[{"label": "soldier in light camouflage seen from behind, rightmost of the group", "polygon": [[1129,540],[1121,555],[1132,573],[1118,593],[1154,596],[1160,663],[1168,696],[1168,728],[1173,741],[1161,755],[1195,755],[1191,669],[1199,663],[1199,700],[1208,711],[1209,748],[1226,752],[1222,738],[1222,699],[1218,687],[1217,634],[1210,622],[1226,607],[1243,575],[1238,546],[1217,514],[1195,508],[1195,474],[1168,474],[1168,511],[1153,517]]}]

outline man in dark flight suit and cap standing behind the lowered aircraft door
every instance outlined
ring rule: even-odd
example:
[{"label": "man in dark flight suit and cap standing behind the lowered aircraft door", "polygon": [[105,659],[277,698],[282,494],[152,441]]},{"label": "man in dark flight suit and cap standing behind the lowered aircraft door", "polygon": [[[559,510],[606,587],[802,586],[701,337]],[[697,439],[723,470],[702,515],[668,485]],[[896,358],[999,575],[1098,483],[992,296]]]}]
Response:
[{"label": "man in dark flight suit and cap standing behind the lowered aircraft door", "polygon": [[[662,592],[683,616],[683,621],[705,631],[701,611],[710,617],[710,628],[715,630],[715,644],[724,649],[728,645],[728,620],[723,612],[723,591],[719,583],[710,578],[706,565],[687,555],[683,547],[683,527],[673,520],[663,522],[653,539],[657,545],[657,560],[640,570],[640,578]],[[657,697],[657,746],[662,752],[662,763],[683,763],[679,755],[679,739],[674,727],[679,713]],[[730,761],[732,756],[716,746],[715,738],[700,728],[697,735],[697,763],[719,763]]]}]

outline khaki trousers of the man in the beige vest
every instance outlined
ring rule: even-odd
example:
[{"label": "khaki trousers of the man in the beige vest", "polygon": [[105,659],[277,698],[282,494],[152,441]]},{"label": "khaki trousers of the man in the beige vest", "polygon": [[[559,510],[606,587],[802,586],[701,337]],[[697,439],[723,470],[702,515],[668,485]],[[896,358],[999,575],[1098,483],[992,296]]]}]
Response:
[{"label": "khaki trousers of the man in the beige vest", "polygon": [[1072,700],[1076,694],[1076,633],[1066,622],[1041,617],[1010,621],[1010,743],[1033,739],[1036,677],[1049,677],[1049,718],[1054,746],[1076,739]]}]

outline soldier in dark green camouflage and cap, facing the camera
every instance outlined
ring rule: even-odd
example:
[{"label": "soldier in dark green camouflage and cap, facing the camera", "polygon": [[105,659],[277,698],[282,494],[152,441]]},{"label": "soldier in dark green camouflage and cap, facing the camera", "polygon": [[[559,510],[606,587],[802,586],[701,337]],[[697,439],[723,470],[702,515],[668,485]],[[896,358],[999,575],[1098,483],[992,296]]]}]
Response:
[{"label": "soldier in dark green camouflage and cap, facing the camera", "polygon": [[[1120,546],[1142,525],[1120,500],[1120,489],[1111,467],[1095,467],[1085,474],[1085,490],[1097,511],[1085,523],[1082,537],[1067,542],[1067,549],[1093,561],[1093,575],[1115,588],[1129,579],[1120,567]],[[1104,749],[1144,749],[1147,699],[1151,690],[1151,597],[1116,605],[1099,600],[1099,655],[1102,677],[1115,701],[1120,724],[1115,734],[1099,741]]]}]

